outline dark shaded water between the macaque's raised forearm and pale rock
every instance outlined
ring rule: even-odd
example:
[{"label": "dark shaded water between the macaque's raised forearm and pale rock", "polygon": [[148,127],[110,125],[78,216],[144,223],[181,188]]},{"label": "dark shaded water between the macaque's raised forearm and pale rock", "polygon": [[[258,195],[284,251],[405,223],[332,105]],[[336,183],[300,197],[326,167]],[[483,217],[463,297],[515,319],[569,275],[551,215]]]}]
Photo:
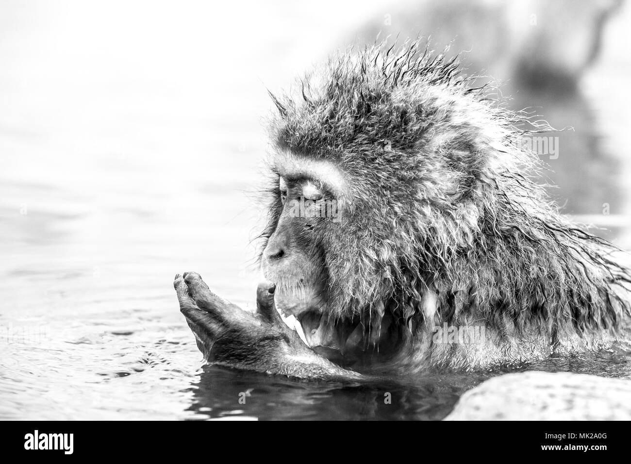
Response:
[{"label": "dark shaded water between the macaque's raised forearm and pale rock", "polygon": [[288,381],[205,367],[195,386],[191,410],[200,418],[439,420],[482,378],[429,376],[413,384],[386,381],[348,385]]}]

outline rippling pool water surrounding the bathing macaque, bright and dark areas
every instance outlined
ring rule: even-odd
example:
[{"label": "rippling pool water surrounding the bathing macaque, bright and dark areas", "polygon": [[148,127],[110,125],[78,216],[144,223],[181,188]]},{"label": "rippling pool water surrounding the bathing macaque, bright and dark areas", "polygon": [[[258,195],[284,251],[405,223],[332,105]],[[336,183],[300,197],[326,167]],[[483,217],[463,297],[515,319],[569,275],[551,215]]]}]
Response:
[{"label": "rippling pool water surrounding the bathing macaque, bright and dark areas", "polygon": [[[441,419],[504,372],[342,385],[230,371],[203,366],[179,313],[172,279],[190,270],[254,302],[265,88],[326,53],[323,28],[359,27],[359,4],[300,13],[299,27],[283,3],[246,18],[238,5],[0,7],[1,419]],[[250,33],[235,37],[237,22]],[[580,100],[544,105],[585,115],[558,125],[585,121],[590,141],[558,160],[558,195],[622,246],[625,59],[603,56]],[[603,80],[620,92],[603,95]],[[524,368],[629,378],[629,360],[620,349]]]}]

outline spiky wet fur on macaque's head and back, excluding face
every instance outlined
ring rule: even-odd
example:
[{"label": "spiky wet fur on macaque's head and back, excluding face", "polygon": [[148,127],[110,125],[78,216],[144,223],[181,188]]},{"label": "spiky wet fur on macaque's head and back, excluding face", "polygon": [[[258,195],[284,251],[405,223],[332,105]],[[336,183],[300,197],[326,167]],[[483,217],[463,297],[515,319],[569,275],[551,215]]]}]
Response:
[{"label": "spiky wet fur on macaque's head and back, excluding face", "polygon": [[[385,305],[410,327],[475,319],[551,338],[628,314],[614,247],[559,215],[533,181],[540,162],[519,140],[553,129],[493,93],[415,41],[338,53],[273,96],[274,150],[327,160],[348,183],[343,220],[322,237],[331,314]],[[275,193],[264,236],[280,210]],[[422,311],[428,292],[433,314]]]}]

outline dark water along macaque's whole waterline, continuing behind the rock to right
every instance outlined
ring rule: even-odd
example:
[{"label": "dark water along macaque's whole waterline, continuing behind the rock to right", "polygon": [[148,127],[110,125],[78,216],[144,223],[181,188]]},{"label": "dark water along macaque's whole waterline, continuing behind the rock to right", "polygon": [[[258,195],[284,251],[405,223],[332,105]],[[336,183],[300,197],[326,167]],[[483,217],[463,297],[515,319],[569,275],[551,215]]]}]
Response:
[{"label": "dark water along macaque's whole waterline, continuing behind the rock to right", "polygon": [[631,379],[631,350],[616,347],[492,372],[428,373],[368,384],[290,381],[205,366],[192,388],[190,410],[194,419],[440,420],[465,391],[492,376],[525,370]]}]

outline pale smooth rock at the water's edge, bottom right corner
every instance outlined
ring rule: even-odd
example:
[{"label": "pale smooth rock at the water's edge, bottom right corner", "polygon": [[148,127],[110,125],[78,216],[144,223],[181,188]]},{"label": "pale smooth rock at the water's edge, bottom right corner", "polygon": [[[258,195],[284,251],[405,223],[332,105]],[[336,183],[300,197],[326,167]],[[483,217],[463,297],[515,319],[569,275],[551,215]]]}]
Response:
[{"label": "pale smooth rock at the water's edge, bottom right corner", "polygon": [[631,420],[631,381],[519,372],[469,390],[445,420]]}]

